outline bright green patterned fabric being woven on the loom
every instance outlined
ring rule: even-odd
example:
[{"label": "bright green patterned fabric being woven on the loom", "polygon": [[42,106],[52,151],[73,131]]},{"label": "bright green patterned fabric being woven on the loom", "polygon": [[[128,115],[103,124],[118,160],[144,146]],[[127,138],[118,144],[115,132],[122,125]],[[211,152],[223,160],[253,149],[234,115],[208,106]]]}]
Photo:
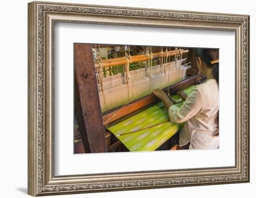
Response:
[{"label": "bright green patterned fabric being woven on the loom", "polygon": [[[193,87],[189,86],[187,89],[184,89],[187,95],[189,95]],[[172,97],[179,99],[177,95]],[[183,101],[175,105],[181,107],[182,103]],[[127,120],[108,128],[108,130],[115,134],[129,151],[154,151],[182,127],[183,123],[173,123],[169,120],[167,109],[165,109],[163,102],[159,102]],[[134,131],[137,132],[130,133]]]}]

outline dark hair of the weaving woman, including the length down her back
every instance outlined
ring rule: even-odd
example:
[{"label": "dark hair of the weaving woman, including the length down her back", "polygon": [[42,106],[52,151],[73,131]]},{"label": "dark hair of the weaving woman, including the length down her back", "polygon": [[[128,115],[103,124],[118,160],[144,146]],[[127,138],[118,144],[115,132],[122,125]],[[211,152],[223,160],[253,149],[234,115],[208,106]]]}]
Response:
[{"label": "dark hair of the weaving woman, including the length down her back", "polygon": [[[212,73],[219,84],[219,63],[211,64],[211,61],[219,59],[219,50],[218,49],[207,49],[207,48],[197,48],[195,50],[196,57],[200,57],[201,60],[210,68],[213,68]],[[215,123],[219,126],[219,111],[217,113]],[[216,134],[219,135],[219,130],[217,130]]]}]

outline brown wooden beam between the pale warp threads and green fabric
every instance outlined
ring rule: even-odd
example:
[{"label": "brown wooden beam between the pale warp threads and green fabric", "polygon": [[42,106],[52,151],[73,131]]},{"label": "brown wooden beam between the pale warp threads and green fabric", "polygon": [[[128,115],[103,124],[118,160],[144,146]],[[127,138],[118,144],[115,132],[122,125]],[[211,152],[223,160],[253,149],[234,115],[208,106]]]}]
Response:
[{"label": "brown wooden beam between the pale warp threads and green fabric", "polygon": [[[169,92],[170,93],[175,93],[180,89],[184,89],[187,86],[194,84],[198,82],[201,78],[201,75],[193,75],[191,77],[188,77],[178,83],[172,84],[169,86]],[[167,88],[164,88],[164,92],[167,93]],[[121,109],[123,106],[117,107],[115,109],[111,109],[109,111],[106,111],[102,115],[102,121],[104,125],[107,125],[108,123],[115,121],[125,115],[128,115],[129,113],[134,112],[137,109],[140,109],[142,107],[145,107],[146,105],[157,101],[158,98],[154,94],[149,94],[147,96],[141,97],[133,102],[130,102],[127,104],[123,109]],[[120,110],[121,109],[121,110]],[[115,115],[115,116],[113,116]],[[113,117],[112,117],[113,116]]]}]

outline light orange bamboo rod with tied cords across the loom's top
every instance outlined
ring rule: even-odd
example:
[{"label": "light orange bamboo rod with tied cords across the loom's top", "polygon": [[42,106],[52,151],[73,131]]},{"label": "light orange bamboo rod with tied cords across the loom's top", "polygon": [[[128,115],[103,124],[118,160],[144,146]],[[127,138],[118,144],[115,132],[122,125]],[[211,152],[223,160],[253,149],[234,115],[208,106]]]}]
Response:
[{"label": "light orange bamboo rod with tied cords across the loom's top", "polygon": [[[152,53],[153,59],[154,58],[159,58],[159,57],[169,57],[169,56],[175,56],[178,54],[183,54],[183,53],[188,53],[189,50],[173,50],[173,51],[164,51],[164,52],[156,52]],[[145,60],[150,60],[151,56],[150,54],[141,54],[141,55],[135,55],[131,56],[129,59],[129,63],[135,63],[139,61],[145,61]],[[110,67],[110,66],[115,66],[115,65],[120,65],[120,64],[127,64],[127,60],[125,57],[118,57],[118,58],[109,58],[109,59],[104,59],[101,60],[102,66],[103,67]],[[100,65],[95,61],[95,68],[99,68]]]}]

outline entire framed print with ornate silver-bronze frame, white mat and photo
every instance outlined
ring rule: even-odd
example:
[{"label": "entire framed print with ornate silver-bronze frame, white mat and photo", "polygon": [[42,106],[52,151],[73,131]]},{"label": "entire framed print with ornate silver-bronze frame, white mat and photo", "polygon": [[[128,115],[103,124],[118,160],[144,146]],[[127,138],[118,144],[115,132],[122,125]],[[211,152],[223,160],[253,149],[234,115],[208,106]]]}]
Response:
[{"label": "entire framed print with ornate silver-bronze frame, white mat and photo", "polygon": [[249,16],[28,4],[28,194],[249,182]]}]

